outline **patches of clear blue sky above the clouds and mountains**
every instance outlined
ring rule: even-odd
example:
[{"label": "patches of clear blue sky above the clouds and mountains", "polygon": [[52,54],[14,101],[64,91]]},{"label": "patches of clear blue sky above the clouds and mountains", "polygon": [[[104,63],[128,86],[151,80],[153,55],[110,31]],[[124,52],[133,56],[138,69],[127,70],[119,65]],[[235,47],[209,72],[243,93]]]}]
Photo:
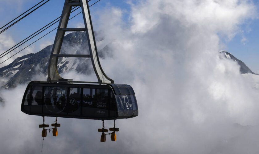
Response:
[{"label": "patches of clear blue sky above the clouds and mountains", "polygon": [[[89,4],[93,4],[97,0],[92,0]],[[0,2],[0,13],[1,21],[0,25],[4,25],[9,22],[11,19],[17,17],[25,10],[30,8],[31,6],[35,5],[39,0],[23,0],[20,2],[16,1],[7,1],[3,0]],[[98,18],[98,13],[102,11],[102,9],[106,7],[117,7],[124,10],[123,13],[123,20],[128,21],[130,20],[129,12],[130,5],[128,4],[128,0],[101,0],[97,2],[97,4],[93,5],[91,10],[92,21],[94,24],[94,29],[98,30],[98,25],[96,24],[96,20]],[[137,2],[137,1],[130,1],[130,2]],[[14,4],[15,3],[15,4]],[[259,8],[259,2],[253,1],[254,5]],[[45,26],[47,23],[51,22],[55,18],[59,17],[63,8],[64,1],[63,0],[51,0],[47,2],[45,5],[40,7],[34,13],[30,14],[22,21],[18,22],[15,26],[8,29],[4,34],[10,35],[13,40],[18,43],[19,41],[23,40],[30,34],[34,33],[35,31],[39,30],[41,27]],[[76,12],[79,12],[78,9]],[[98,13],[97,13],[98,12]],[[74,13],[75,14],[75,13]],[[258,18],[258,14],[257,14]],[[232,39],[226,39],[220,37],[221,42],[224,46],[221,50],[226,50],[232,53],[236,58],[242,60],[248,67],[252,69],[252,71],[259,73],[259,52],[258,52],[258,35],[259,35],[259,20],[257,18],[250,19],[249,21],[245,21],[245,24],[239,25],[240,31],[237,33]],[[82,18],[78,15],[76,18],[71,20],[69,25],[71,27],[77,26],[78,23],[82,22]],[[219,23],[220,24],[220,23]],[[37,37],[46,34],[48,31],[52,30],[58,25],[56,23],[50,29],[44,31]],[[40,50],[44,45],[52,44],[54,41],[56,30],[52,33],[48,34],[46,37],[35,43],[32,47],[34,47],[34,52]],[[241,40],[245,38],[244,42]],[[34,41],[32,39],[30,42]]]}]

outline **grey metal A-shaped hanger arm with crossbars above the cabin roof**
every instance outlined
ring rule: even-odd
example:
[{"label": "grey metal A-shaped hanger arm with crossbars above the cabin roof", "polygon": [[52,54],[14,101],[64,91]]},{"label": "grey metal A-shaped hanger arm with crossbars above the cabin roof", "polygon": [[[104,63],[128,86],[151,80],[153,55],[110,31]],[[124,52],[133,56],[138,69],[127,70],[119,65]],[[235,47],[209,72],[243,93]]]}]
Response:
[{"label": "grey metal A-shaped hanger arm with crossbars above the cabin roof", "polygon": [[[80,6],[84,18],[85,28],[67,28],[69,16],[71,13],[72,6]],[[64,39],[66,31],[85,31],[87,34],[87,41],[89,46],[90,55],[68,55],[60,54],[61,45]],[[57,63],[59,57],[89,57],[92,60],[92,66],[98,79],[98,83],[113,83],[113,80],[105,75],[102,70],[97,47],[92,28],[92,20],[87,0],[65,0],[64,8],[61,14],[57,34],[51,51],[49,65],[48,65],[48,81],[58,81],[63,79],[60,77],[57,69]]]}]

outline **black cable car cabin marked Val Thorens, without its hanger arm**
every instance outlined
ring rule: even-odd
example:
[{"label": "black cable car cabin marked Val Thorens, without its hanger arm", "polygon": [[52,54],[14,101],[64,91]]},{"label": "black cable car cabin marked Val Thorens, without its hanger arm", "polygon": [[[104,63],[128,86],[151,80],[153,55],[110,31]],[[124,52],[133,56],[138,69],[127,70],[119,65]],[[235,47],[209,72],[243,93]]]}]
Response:
[{"label": "black cable car cabin marked Val Thorens, without its hanger arm", "polygon": [[29,115],[115,120],[138,115],[135,93],[127,84],[72,84],[32,81],[21,111]]}]

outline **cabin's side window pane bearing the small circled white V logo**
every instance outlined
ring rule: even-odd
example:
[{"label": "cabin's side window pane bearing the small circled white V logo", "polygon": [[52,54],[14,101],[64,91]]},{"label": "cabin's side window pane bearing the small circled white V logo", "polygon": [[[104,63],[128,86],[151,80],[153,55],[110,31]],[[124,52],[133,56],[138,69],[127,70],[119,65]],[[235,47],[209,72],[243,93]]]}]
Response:
[{"label": "cabin's side window pane bearing the small circled white V logo", "polygon": [[[67,107],[68,113],[74,112],[80,108],[80,102],[81,102],[80,91],[81,91],[81,88],[70,88],[69,101],[68,101],[68,107]],[[79,110],[77,114],[80,114]]]}]

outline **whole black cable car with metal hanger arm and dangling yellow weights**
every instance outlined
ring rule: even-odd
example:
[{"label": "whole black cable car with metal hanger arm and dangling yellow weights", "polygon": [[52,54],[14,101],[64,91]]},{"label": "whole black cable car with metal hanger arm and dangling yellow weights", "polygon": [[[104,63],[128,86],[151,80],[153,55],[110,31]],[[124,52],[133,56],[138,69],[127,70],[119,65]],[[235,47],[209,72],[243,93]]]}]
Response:
[{"label": "whole black cable car with metal hanger arm and dangling yellow weights", "polygon": [[[72,7],[81,7],[84,28],[67,28]],[[73,18],[73,17],[72,17]],[[86,32],[89,54],[60,54],[65,32]],[[87,50],[86,50],[87,51]],[[85,52],[88,53],[88,52]],[[91,58],[98,82],[80,82],[63,79],[58,73],[60,57]],[[21,111],[29,115],[43,116],[42,137],[47,136],[48,124],[44,117],[56,117],[51,124],[53,136],[57,136],[57,117],[102,120],[101,142],[105,142],[108,129],[104,128],[104,120],[114,120],[114,127],[109,128],[112,141],[116,141],[116,119],[138,116],[138,105],[133,88],[127,84],[114,84],[105,75],[99,61],[94,30],[87,0],[65,0],[55,41],[48,62],[47,81],[31,81],[23,95]]]}]

